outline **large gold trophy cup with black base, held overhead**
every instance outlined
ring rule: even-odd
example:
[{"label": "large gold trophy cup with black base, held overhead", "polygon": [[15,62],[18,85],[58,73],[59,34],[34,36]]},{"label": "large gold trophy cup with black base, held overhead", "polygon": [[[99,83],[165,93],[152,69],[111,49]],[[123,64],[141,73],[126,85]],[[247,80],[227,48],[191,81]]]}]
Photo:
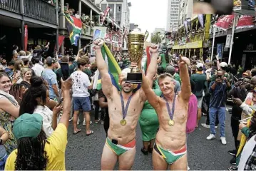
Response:
[{"label": "large gold trophy cup with black base, held overhead", "polygon": [[[143,48],[147,38],[148,31],[145,31],[145,34],[141,33],[138,29],[138,25],[135,25],[134,30],[128,34],[128,54],[130,62],[138,63],[138,66],[140,66],[139,63],[141,62],[141,58],[143,58]],[[131,71],[127,74],[126,83],[142,83],[142,73],[138,66],[130,67]]]}]

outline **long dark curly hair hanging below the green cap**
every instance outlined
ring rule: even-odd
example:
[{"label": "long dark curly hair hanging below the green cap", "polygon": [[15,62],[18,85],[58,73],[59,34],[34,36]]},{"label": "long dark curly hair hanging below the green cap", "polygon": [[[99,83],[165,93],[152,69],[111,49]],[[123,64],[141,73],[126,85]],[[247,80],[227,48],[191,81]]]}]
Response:
[{"label": "long dark curly hair hanging below the green cap", "polygon": [[17,142],[15,170],[46,170],[48,156],[44,147],[48,141],[43,130],[36,139],[21,138]]}]

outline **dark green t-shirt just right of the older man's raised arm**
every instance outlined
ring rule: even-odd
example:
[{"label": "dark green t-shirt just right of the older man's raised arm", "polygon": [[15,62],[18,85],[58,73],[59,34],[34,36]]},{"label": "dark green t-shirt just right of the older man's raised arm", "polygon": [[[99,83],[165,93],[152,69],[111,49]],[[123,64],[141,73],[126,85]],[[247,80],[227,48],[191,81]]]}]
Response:
[{"label": "dark green t-shirt just right of the older man's raised arm", "polygon": [[204,73],[192,74],[191,80],[195,82],[194,94],[197,98],[203,98],[203,90],[206,82],[206,75]]}]

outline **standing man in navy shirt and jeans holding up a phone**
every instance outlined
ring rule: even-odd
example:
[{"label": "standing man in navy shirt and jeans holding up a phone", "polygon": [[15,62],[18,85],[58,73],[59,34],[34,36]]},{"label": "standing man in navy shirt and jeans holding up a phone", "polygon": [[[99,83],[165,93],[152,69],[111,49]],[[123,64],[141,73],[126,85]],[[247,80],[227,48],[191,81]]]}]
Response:
[{"label": "standing man in navy shirt and jeans holding up a phone", "polygon": [[230,83],[224,76],[224,71],[217,71],[217,78],[215,81],[210,83],[210,135],[206,138],[207,140],[215,139],[215,120],[218,114],[220,123],[220,140],[223,145],[227,144],[225,138],[225,115],[226,115],[226,91],[231,88]]}]

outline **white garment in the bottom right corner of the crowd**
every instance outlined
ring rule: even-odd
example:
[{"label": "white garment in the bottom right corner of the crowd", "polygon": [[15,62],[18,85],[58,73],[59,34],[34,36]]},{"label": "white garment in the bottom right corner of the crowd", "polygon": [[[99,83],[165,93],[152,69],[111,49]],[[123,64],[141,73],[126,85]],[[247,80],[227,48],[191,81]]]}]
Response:
[{"label": "white garment in the bottom right corner of the crowd", "polygon": [[256,135],[253,135],[252,138],[250,138],[250,140],[246,142],[245,147],[242,150],[241,159],[238,165],[238,170],[244,170],[245,164],[248,158],[250,157],[250,155],[252,154],[253,148],[256,145],[255,136]]}]

